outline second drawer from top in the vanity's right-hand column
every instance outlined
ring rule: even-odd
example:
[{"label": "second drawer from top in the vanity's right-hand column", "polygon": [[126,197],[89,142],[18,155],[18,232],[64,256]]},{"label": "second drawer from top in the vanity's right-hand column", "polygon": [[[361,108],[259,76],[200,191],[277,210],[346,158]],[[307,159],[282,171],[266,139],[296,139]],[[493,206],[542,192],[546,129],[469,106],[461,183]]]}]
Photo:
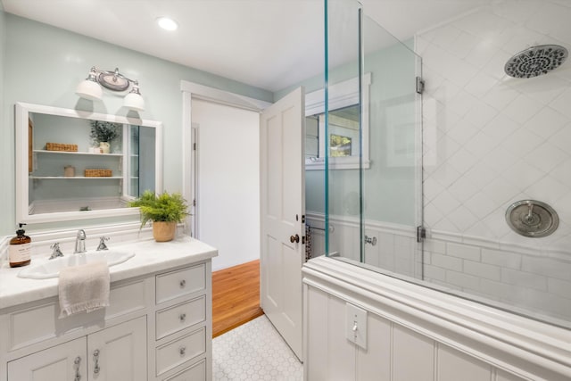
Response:
[{"label": "second drawer from top in the vanity's right-hand column", "polygon": [[156,313],[156,339],[194,326],[206,319],[206,297],[201,296]]}]

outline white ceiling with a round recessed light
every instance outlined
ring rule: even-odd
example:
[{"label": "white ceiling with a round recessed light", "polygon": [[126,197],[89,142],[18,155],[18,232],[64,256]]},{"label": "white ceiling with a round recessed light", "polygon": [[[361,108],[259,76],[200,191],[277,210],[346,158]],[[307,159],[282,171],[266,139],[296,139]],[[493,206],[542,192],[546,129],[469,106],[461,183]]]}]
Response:
[{"label": "white ceiling with a round recessed light", "polygon": [[[323,0],[1,1],[5,12],[270,91],[323,68]],[[368,17],[403,40],[490,1],[361,4]],[[179,29],[160,29],[159,16],[175,19]]]}]

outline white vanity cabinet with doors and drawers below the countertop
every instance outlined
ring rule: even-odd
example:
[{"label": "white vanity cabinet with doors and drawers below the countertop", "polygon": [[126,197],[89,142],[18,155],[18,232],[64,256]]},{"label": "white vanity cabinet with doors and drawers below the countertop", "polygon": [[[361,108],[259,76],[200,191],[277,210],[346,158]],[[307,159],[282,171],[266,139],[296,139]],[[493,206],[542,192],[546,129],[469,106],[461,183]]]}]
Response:
[{"label": "white vanity cabinet with doors and drawers below the countertop", "polygon": [[[211,380],[216,251],[196,260],[172,247],[164,256],[177,257],[174,265],[158,271],[149,271],[149,259],[137,254],[145,274],[112,281],[105,309],[58,319],[58,298],[46,294],[0,309],[0,381]],[[129,261],[137,262],[137,255]]]}]

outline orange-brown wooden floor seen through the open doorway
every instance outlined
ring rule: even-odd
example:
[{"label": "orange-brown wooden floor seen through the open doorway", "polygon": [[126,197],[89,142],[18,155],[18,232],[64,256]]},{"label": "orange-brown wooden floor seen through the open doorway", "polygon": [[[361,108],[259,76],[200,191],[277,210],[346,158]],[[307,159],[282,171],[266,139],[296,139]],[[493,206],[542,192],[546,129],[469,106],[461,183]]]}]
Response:
[{"label": "orange-brown wooden floor seen through the open doorway", "polygon": [[259,260],[212,272],[212,337],[263,313]]}]

